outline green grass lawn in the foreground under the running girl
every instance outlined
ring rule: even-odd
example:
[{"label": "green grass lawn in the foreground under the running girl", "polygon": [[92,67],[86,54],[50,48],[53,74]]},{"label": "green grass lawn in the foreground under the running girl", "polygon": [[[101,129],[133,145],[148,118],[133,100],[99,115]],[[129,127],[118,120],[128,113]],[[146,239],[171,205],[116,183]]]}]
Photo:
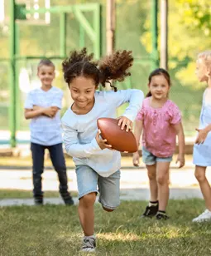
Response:
[{"label": "green grass lawn in the foreground under the running girl", "polygon": [[[211,255],[211,223],[191,222],[204,210],[203,200],[170,200],[167,221],[140,219],[145,206],[146,202],[124,201],[107,213],[96,204],[94,255]],[[76,206],[4,207],[0,216],[2,256],[84,255],[79,253],[82,232]]]}]

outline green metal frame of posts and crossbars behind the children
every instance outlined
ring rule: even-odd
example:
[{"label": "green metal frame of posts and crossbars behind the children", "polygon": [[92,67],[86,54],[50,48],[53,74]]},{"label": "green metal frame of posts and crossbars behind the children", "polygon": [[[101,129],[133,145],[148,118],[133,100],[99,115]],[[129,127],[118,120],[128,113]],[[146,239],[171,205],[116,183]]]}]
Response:
[{"label": "green metal frame of posts and crossbars behind the children", "polygon": [[[51,59],[64,59],[66,57],[66,37],[67,37],[67,13],[74,13],[74,16],[79,21],[79,47],[84,47],[85,33],[93,42],[94,57],[99,58],[102,55],[102,6],[99,3],[85,3],[70,6],[54,6],[50,8],[40,8],[38,10],[26,10],[24,4],[17,4],[15,0],[9,0],[10,17],[9,17],[9,59],[0,62],[9,62],[9,85],[10,85],[10,106],[9,106],[9,126],[10,126],[10,145],[17,145],[17,106],[18,106],[18,74],[17,61],[28,59],[41,59],[43,56],[20,56],[19,55],[19,25],[17,20],[25,20],[26,14],[45,13],[60,14],[60,55],[51,56]],[[151,59],[140,60],[139,62],[151,62],[152,68],[158,66],[158,50],[157,50],[157,8],[158,0],[151,0],[151,33],[152,33],[152,52]],[[84,16],[84,12],[93,12],[93,21],[90,23]]]}]

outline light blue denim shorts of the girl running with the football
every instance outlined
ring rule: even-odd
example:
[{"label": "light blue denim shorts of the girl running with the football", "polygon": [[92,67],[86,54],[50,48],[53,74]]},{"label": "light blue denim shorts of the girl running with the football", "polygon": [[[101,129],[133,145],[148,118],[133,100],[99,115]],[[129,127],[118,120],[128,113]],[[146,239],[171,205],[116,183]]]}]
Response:
[{"label": "light blue denim shorts of the girl running with the football", "polygon": [[120,170],[102,177],[88,165],[76,165],[76,176],[79,199],[85,194],[99,192],[99,203],[104,208],[116,209],[120,204]]}]

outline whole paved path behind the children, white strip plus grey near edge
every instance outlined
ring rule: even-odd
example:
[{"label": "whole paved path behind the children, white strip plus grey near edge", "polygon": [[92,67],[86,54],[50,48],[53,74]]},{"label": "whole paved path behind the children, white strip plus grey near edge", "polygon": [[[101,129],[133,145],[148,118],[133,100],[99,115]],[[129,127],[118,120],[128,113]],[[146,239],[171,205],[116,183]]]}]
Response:
[{"label": "whole paved path behind the children, white strip plus grey near edge", "polygon": [[[207,172],[211,181],[210,171]],[[71,191],[77,191],[76,175],[74,170],[68,171]],[[124,169],[121,177],[122,200],[148,200],[149,182],[146,169]],[[0,170],[0,189],[5,190],[32,190],[31,170]],[[57,175],[54,170],[46,170],[43,174],[43,190],[58,190]],[[194,168],[189,166],[185,170],[170,170],[170,198],[188,199],[202,198],[199,185],[194,177]],[[78,199],[74,198],[75,204]],[[33,199],[0,199],[0,206],[6,205],[33,205]],[[45,204],[63,204],[60,198],[46,198]]]}]

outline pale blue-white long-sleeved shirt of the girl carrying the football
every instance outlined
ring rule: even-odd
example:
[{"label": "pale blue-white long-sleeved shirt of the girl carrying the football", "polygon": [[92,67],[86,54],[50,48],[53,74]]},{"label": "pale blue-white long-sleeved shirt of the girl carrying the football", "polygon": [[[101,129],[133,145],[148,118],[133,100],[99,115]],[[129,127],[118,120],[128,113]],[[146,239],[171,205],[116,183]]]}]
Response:
[{"label": "pale blue-white long-sleeved shirt of the girl carrying the football", "polygon": [[96,91],[94,107],[86,115],[76,115],[69,108],[62,117],[65,150],[75,165],[89,165],[99,175],[108,177],[120,169],[121,155],[116,150],[101,150],[95,136],[100,117],[116,118],[117,107],[130,102],[122,116],[134,121],[141,109],[143,92],[136,89]]}]

